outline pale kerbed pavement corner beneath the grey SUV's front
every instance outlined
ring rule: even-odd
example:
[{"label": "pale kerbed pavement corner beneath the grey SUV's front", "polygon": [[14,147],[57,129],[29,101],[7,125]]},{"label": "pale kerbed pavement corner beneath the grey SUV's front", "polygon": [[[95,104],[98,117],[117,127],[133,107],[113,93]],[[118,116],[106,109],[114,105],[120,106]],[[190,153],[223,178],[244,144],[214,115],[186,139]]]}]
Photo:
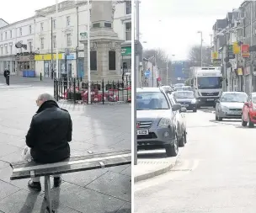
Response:
[{"label": "pale kerbed pavement corner beneath the grey SUV's front", "polygon": [[[181,152],[182,148],[179,148],[179,155]],[[150,152],[150,154],[148,152],[139,152],[138,163],[133,167],[134,182],[168,173],[175,166],[177,157],[166,157],[164,151]]]}]

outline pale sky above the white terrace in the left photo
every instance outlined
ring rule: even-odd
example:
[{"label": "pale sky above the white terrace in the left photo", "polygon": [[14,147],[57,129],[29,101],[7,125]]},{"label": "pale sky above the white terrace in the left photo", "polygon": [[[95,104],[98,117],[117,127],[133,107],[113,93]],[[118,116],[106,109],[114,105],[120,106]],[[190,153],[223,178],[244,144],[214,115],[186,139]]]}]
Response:
[{"label": "pale sky above the white terrace in the left photo", "polygon": [[[63,0],[59,0],[59,3]],[[35,15],[35,10],[45,8],[56,3],[56,0],[7,0],[0,7],[0,18],[12,24]]]}]

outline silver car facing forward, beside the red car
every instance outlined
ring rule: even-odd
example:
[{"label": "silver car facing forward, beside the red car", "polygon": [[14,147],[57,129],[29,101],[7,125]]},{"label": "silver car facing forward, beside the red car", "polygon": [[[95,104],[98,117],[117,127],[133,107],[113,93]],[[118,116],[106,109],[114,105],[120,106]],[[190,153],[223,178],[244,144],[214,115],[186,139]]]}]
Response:
[{"label": "silver car facing forward, beside the red car", "polygon": [[243,104],[248,99],[247,93],[223,92],[216,100],[216,120],[241,119]]}]

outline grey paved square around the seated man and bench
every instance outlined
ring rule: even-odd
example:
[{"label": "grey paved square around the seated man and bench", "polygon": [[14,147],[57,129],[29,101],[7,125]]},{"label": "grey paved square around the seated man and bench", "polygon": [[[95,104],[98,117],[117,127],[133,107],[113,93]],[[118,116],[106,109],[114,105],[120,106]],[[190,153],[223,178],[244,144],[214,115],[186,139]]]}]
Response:
[{"label": "grey paved square around the seated man and bench", "polygon": [[[24,79],[15,83],[12,85],[16,88],[0,91],[0,213],[45,212],[43,193],[29,191],[29,179],[10,181],[9,162],[20,160],[24,136],[37,109],[35,99],[40,93],[53,93],[53,88],[51,83],[38,85]],[[24,84],[30,87],[19,87]],[[88,151],[131,149],[130,105],[61,104],[61,107],[72,116],[73,157]],[[63,174],[62,178],[60,189],[52,189],[56,212],[131,212],[131,166]]]}]

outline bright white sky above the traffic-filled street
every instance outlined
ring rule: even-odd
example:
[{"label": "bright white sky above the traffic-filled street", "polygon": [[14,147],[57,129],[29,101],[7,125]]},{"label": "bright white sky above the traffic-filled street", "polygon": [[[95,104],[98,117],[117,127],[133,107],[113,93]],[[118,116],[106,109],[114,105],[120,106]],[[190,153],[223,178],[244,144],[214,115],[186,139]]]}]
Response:
[{"label": "bright white sky above the traffic-filled street", "polygon": [[243,0],[141,0],[140,31],[145,49],[161,48],[174,60],[187,59],[189,48],[210,45],[216,19],[225,19]]}]

